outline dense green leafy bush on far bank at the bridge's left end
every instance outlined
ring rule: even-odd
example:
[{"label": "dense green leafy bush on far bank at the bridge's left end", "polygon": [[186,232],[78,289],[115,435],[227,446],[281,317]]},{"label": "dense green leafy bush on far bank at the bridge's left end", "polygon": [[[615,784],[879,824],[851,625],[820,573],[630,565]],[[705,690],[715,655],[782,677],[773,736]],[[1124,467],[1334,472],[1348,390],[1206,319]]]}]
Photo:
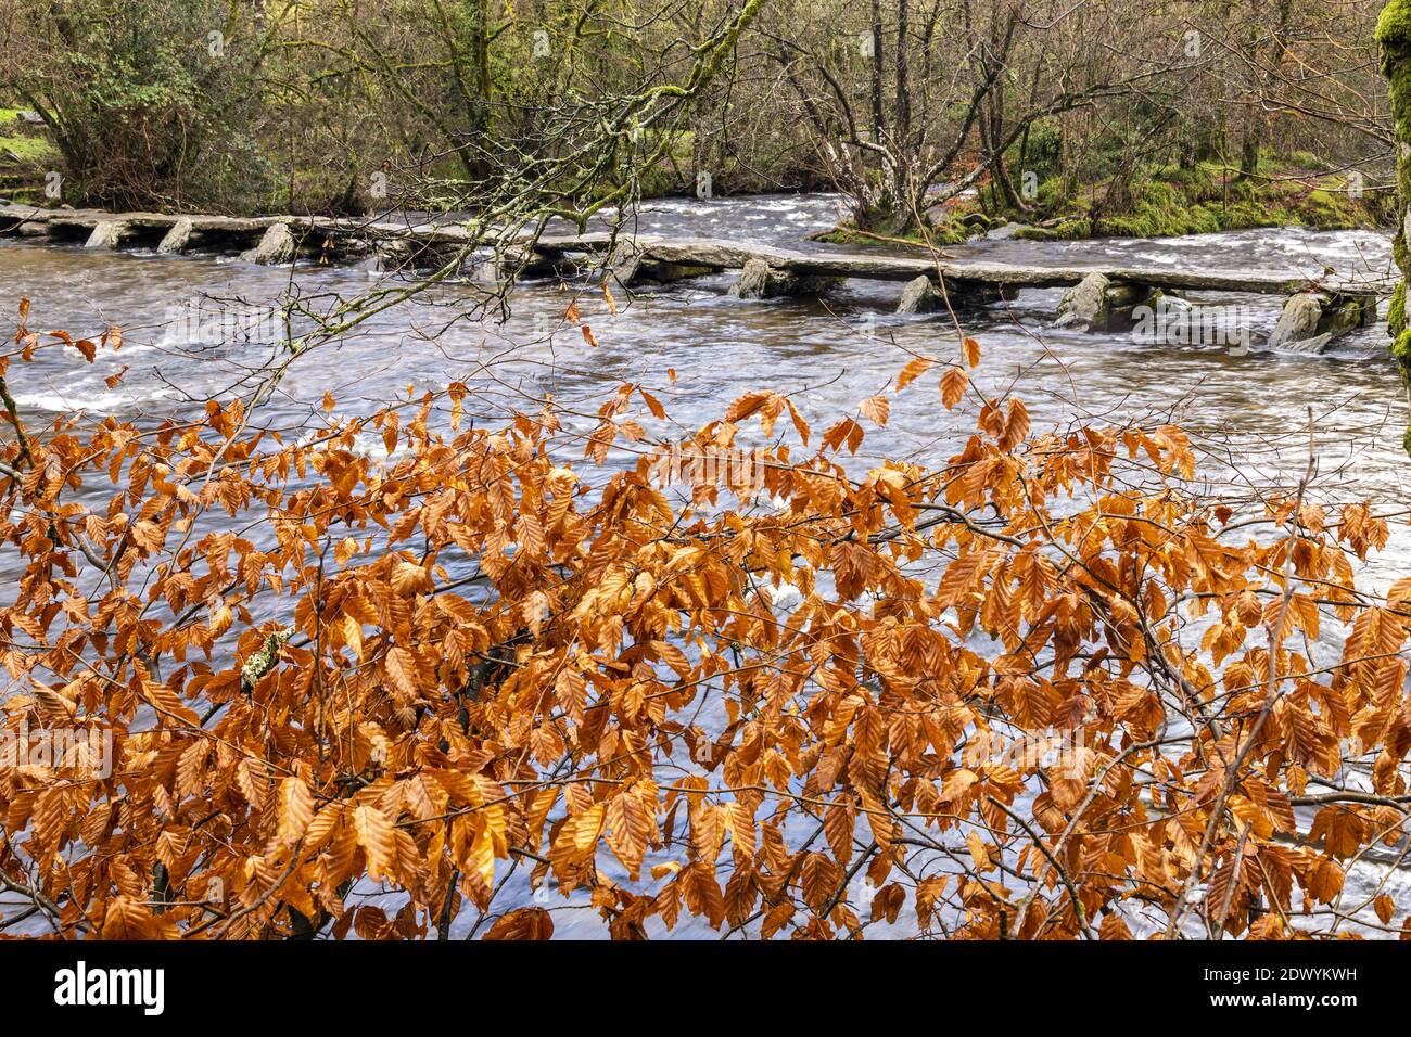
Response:
[{"label": "dense green leafy bush on far bank at the bridge's left end", "polygon": [[258,52],[233,32],[229,4],[21,3],[14,28],[31,59],[8,71],[3,100],[45,127],[10,131],[10,152],[62,172],[59,200],[143,207],[185,195],[220,207],[268,188],[248,121]]}]

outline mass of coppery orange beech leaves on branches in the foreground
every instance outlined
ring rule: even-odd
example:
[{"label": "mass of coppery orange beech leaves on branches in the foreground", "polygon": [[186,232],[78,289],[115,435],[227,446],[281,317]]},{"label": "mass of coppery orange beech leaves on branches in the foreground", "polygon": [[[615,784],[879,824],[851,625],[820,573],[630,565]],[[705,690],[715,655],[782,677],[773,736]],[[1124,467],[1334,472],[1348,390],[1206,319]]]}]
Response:
[{"label": "mass of coppery orange beech leaves on branches in the foreground", "polygon": [[[25,312],[11,384],[120,348]],[[1398,931],[1345,886],[1411,803],[1411,578],[1353,578],[1386,519],[1311,497],[1316,444],[1283,497],[1209,499],[1178,427],[1034,430],[978,365],[821,423],[761,388],[680,440],[635,384],[588,427],[329,398],[299,443],[241,401],[10,406],[3,722],[111,766],[0,772],[0,885],[109,938],[543,938],[579,890],[618,938]],[[903,392],[962,449],[852,471]],[[507,910],[514,873],[545,896]]]}]

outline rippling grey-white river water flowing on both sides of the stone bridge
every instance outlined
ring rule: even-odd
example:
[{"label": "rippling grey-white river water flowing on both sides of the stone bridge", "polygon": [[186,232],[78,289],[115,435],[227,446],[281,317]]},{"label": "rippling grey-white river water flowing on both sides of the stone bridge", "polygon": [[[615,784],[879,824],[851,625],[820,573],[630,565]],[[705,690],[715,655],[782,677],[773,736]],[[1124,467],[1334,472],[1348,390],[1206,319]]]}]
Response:
[{"label": "rippling grey-white river water flowing on both sides of the stone bridge", "polygon": [[[824,248],[806,238],[837,222],[838,205],[821,195],[669,200],[645,206],[636,229]],[[1390,264],[1386,236],[1298,229],[1158,241],[985,240],[947,251],[1003,262],[1277,269],[1309,278],[1328,268],[1381,278]],[[296,432],[320,420],[325,392],[357,411],[452,380],[474,387],[471,399],[487,416],[511,405],[533,409],[545,391],[569,408],[583,402],[591,413],[605,391],[626,380],[666,404],[677,432],[721,416],[739,394],[762,387],[799,394],[810,423],[823,429],[895,384],[910,356],[948,358],[958,347],[950,317],[893,313],[897,284],[849,281],[823,299],[769,302],[732,299],[729,284],[729,275],[718,275],[643,289],[622,301],[617,316],[595,292],[586,293],[580,310],[600,341],[595,348],[563,322],[566,295],[557,285],[522,285],[508,319],[474,312],[471,285],[439,288],[302,357],[267,416]],[[0,312],[16,313],[25,296],[34,330],[66,329],[75,337],[110,325],[124,330],[123,348],[95,364],[76,350],[45,350],[34,364],[13,365],[11,391],[34,425],[75,411],[141,420],[181,415],[247,385],[277,353],[271,341],[281,330],[268,326],[268,308],[298,298],[323,310],[377,286],[375,275],[353,267],[308,264],[291,272],[214,255],[0,241]],[[1263,344],[1283,305],[1274,296],[1191,296],[1219,308],[1206,312],[1226,333],[1189,341],[1168,329],[1055,329],[1060,295],[1026,291],[1010,302],[958,310],[964,333],[983,348],[981,387],[995,395],[1017,381],[1036,430],[1127,418],[1177,420],[1208,444],[1206,461],[1219,481],[1252,492],[1297,483],[1312,415],[1316,495],[1370,499],[1387,512],[1411,501],[1411,463],[1401,447],[1407,401],[1386,353],[1384,325],[1355,332],[1322,354],[1277,353]],[[124,365],[123,381],[109,387],[104,380]],[[933,381],[893,401],[888,427],[869,432],[859,467],[883,456],[938,463],[964,442],[974,418],[947,412]],[[0,581],[13,578],[13,557],[0,557]],[[1383,587],[1405,573],[1411,536],[1398,521],[1391,545],[1360,578]],[[576,914],[584,931],[595,930],[591,911]]]}]

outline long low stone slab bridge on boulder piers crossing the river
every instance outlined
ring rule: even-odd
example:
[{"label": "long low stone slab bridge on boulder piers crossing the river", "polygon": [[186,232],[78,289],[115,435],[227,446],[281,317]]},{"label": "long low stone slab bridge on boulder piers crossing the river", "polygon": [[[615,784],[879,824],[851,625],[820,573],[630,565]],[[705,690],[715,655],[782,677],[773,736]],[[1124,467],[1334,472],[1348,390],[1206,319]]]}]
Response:
[{"label": "long low stone slab bridge on boulder piers crossing the river", "polygon": [[[97,209],[0,206],[0,234],[82,241],[90,248],[155,247],[238,251],[243,260],[288,264],[298,255],[371,258],[381,265],[440,265],[477,244],[464,224],[452,222],[351,220],[317,216],[169,216],[110,213]],[[481,238],[483,240],[483,238]],[[1332,339],[1376,320],[1377,301],[1394,281],[1308,278],[1297,271],[1188,269],[1167,267],[1095,269],[886,255],[842,248],[790,251],[731,244],[715,238],[626,236],[607,231],[571,237],[539,236],[502,243],[498,261],[522,272],[583,274],[597,267],[618,285],[669,282],[741,271],[731,293],[762,299],[824,291],[845,278],[904,282],[899,313],[926,313],[947,303],[1013,298],[1024,288],[1065,288],[1058,323],[1109,330],[1130,323],[1133,310],[1182,292],[1240,292],[1285,296],[1268,344],[1300,353],[1321,351]]]}]

